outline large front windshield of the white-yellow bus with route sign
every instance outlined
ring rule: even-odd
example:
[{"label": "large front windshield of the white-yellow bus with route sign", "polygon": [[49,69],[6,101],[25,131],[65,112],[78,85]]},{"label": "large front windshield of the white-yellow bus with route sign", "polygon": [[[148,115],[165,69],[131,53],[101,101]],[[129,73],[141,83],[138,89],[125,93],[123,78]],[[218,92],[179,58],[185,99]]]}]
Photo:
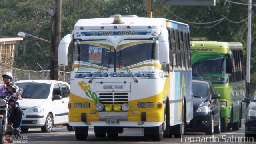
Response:
[{"label": "large front windshield of the white-yellow bus with route sign", "polygon": [[[73,55],[74,71],[126,71],[125,66],[159,63],[157,38],[122,40],[116,50],[108,40],[76,40]],[[152,66],[143,70],[153,70]]]}]

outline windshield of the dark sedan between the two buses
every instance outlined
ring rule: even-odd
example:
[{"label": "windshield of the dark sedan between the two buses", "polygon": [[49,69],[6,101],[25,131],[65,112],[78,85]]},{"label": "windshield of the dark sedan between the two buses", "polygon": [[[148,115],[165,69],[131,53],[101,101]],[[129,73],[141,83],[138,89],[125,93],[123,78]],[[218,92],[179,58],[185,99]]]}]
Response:
[{"label": "windshield of the dark sedan between the two buses", "polygon": [[192,82],[193,96],[198,98],[208,97],[207,84]]}]

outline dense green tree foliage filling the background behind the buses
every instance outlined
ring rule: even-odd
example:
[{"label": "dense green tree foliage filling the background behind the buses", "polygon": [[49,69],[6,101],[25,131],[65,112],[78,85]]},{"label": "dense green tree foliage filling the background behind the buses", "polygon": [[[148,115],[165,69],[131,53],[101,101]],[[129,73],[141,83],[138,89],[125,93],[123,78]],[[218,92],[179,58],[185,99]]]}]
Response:
[{"label": "dense green tree foliage filling the background behind the buses", "polygon": [[[153,17],[188,23],[191,37],[241,42],[244,46],[244,62],[246,62],[248,6],[226,0],[216,0],[216,6],[163,6],[161,1],[153,1]],[[232,1],[247,2],[247,0]],[[256,4],[256,0],[252,2]],[[51,16],[46,10],[54,11],[54,6],[54,0],[1,0],[0,35],[16,37],[18,32],[26,32],[50,41]],[[256,6],[252,6],[252,80],[256,76],[255,8]],[[147,0],[62,0],[62,37],[72,32],[78,19],[103,18],[114,14],[146,17]],[[29,69],[40,70],[34,66],[35,63],[49,69],[47,66],[50,63],[50,44],[34,38],[24,38],[22,42],[18,42],[17,48],[18,53],[15,58],[17,67],[24,67],[20,63],[25,62]],[[256,87],[256,82],[251,81],[251,85],[253,88]]]}]

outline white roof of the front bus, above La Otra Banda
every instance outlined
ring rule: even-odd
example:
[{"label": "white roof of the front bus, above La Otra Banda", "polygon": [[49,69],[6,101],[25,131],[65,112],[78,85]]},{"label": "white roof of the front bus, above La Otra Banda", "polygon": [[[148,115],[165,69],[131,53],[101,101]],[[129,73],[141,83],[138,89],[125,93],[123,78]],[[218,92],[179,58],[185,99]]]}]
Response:
[{"label": "white roof of the front bus, above La Otra Banda", "polygon": [[[188,24],[167,20],[165,18],[122,17],[121,24],[113,24],[114,18],[80,19],[74,30],[104,30],[104,29],[160,29],[163,26],[188,30]],[[118,26],[118,28],[114,28]]]}]

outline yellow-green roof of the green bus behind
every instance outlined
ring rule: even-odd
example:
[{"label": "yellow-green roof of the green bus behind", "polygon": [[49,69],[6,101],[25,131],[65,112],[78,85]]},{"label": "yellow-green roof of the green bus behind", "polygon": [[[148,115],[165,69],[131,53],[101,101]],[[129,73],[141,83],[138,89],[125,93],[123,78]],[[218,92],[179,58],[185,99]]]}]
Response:
[{"label": "yellow-green roof of the green bus behind", "polygon": [[218,42],[218,41],[190,41],[191,48],[226,48],[226,49],[242,49],[240,42]]}]

